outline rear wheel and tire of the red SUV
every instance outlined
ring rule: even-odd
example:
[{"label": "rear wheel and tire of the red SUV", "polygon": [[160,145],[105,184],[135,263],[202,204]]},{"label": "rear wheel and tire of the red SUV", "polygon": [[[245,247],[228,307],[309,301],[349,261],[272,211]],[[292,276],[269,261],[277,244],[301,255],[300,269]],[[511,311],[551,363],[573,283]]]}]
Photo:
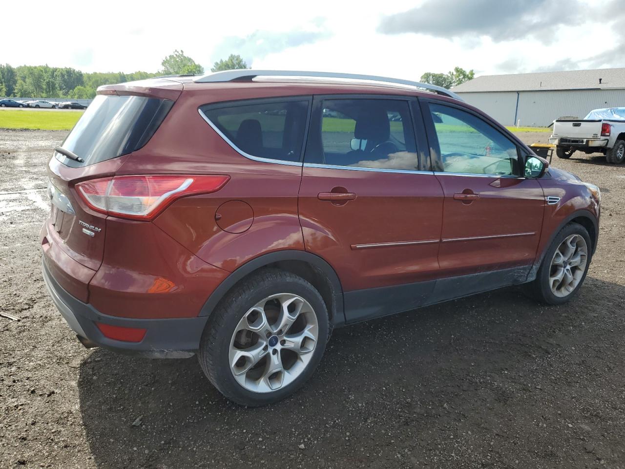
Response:
[{"label": "rear wheel and tire of the red SUV", "polygon": [[226,398],[245,406],[282,400],[321,360],[329,335],[326,304],[306,280],[267,269],[242,281],[212,312],[198,358]]}]

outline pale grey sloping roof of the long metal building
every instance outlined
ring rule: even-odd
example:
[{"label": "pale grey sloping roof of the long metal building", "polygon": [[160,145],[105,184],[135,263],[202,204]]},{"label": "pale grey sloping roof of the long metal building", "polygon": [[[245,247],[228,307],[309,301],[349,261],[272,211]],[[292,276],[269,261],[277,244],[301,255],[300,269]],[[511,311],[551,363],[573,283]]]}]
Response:
[{"label": "pale grey sloping roof of the long metal building", "polygon": [[[599,83],[601,79],[601,83]],[[454,86],[455,93],[625,88],[625,68],[478,76]]]}]

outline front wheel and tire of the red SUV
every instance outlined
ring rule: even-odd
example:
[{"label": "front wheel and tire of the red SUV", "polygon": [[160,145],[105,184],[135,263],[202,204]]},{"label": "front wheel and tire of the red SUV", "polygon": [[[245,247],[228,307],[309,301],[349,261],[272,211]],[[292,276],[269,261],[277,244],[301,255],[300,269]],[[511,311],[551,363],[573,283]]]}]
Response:
[{"label": "front wheel and tire of the red SUV", "polygon": [[591,261],[591,239],[586,228],[569,223],[557,233],[542,258],[526,292],[542,303],[562,305],[577,295]]}]

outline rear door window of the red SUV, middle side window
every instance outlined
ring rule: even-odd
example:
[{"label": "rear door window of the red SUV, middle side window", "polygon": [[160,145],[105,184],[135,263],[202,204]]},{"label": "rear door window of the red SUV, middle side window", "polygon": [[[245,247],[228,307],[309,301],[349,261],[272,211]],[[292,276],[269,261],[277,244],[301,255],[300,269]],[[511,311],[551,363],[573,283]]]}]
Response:
[{"label": "rear door window of the red SUV, middle side window", "polygon": [[321,141],[324,163],[378,169],[419,169],[407,101],[325,99]]}]

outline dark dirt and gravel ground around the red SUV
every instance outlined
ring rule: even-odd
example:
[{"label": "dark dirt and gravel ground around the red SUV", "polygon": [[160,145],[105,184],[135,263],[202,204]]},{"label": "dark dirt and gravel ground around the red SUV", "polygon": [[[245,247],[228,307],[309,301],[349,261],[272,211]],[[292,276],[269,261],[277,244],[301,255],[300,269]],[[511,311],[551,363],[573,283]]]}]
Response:
[{"label": "dark dirt and gravel ground around the red SUV", "polygon": [[246,409],[194,358],[84,349],[54,309],[39,228],[64,134],[0,131],[0,311],[21,318],[0,317],[0,468],[625,468],[625,166],[554,158],[603,194],[568,305],[506,288],[343,328],[301,391]]}]

